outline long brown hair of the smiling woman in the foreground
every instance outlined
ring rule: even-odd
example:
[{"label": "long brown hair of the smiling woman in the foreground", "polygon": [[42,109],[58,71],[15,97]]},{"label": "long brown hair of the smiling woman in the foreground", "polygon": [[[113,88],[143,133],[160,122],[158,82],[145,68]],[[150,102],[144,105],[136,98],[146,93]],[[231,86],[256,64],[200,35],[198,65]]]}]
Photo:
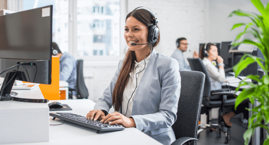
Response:
[{"label": "long brown hair of the smiling woman in the foreground", "polygon": [[[129,14],[127,14],[125,22],[127,18],[130,16],[135,17],[138,21],[142,22],[147,26],[147,29],[149,30],[150,26],[153,25],[154,17],[145,9],[137,9],[133,10]],[[157,46],[160,42],[160,33],[158,36],[158,39],[155,43],[152,44],[152,48]],[[151,46],[151,45],[149,45]],[[150,49],[150,48],[149,48]],[[112,104],[115,109],[115,111],[119,111],[119,109],[122,107],[122,96],[124,88],[127,85],[128,79],[129,79],[129,73],[133,69],[134,62],[136,60],[135,51],[127,50],[125,57],[123,59],[123,66],[122,69],[119,72],[119,77],[117,79],[117,82],[115,84],[113,93],[112,93]]]}]

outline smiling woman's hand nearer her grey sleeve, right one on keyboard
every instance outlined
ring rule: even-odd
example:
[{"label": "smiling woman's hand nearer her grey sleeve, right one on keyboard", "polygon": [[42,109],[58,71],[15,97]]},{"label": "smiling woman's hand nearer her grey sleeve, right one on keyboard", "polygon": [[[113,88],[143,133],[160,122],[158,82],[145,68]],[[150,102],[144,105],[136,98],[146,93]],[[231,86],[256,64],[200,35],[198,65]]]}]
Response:
[{"label": "smiling woman's hand nearer her grey sleeve, right one on keyboard", "polygon": [[136,123],[134,122],[133,118],[125,117],[124,115],[118,112],[109,113],[100,122],[102,123],[110,122],[109,124],[119,124],[124,127],[136,127]]}]

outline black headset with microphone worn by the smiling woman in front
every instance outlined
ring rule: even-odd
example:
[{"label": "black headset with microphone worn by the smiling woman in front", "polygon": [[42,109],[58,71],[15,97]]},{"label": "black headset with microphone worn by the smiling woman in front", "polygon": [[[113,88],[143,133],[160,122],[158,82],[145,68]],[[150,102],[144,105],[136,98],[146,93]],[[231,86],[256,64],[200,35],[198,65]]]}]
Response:
[{"label": "black headset with microphone worn by the smiling woman in front", "polygon": [[[144,6],[141,6],[141,7],[144,7]],[[138,7],[138,8],[141,8],[141,7]],[[134,10],[136,10],[138,8],[135,8]],[[148,7],[145,7],[145,8],[148,8]],[[150,9],[150,8],[148,8],[148,9]],[[157,13],[155,13],[155,15],[154,15],[153,12],[150,12],[148,10],[147,10],[147,12],[149,12],[152,15],[152,17],[154,17],[153,25],[150,26],[149,34],[148,34],[148,37],[147,37],[147,41],[149,41],[149,43],[146,43],[146,44],[151,44],[151,43],[155,43],[157,41],[157,39],[158,39],[159,28],[157,26],[157,23],[159,22],[159,20],[157,20]],[[143,45],[143,44],[132,43],[131,45]]]}]

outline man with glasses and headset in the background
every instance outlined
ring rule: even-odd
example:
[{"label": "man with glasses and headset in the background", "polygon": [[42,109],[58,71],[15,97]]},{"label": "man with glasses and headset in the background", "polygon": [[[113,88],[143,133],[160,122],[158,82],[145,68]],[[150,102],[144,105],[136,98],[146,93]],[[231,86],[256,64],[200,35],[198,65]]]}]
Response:
[{"label": "man with glasses and headset in the background", "polygon": [[[185,62],[185,59],[183,57],[183,52],[187,51],[188,48],[188,42],[187,39],[182,37],[178,38],[176,41],[177,49],[175,52],[172,54],[172,58],[176,59],[178,64],[179,64],[179,70],[191,70],[190,66],[188,66]],[[193,54],[194,58],[198,58],[199,55],[196,51],[194,51]]]}]

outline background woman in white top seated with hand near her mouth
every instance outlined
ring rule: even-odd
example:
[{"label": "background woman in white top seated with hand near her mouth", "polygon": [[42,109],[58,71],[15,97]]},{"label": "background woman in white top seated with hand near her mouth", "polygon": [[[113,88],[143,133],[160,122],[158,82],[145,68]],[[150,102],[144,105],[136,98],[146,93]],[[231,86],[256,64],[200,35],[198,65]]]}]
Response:
[{"label": "background woman in white top seated with hand near her mouth", "polygon": [[[201,47],[199,57],[203,60],[203,64],[210,76],[211,81],[211,91],[213,90],[221,90],[221,84],[225,82],[225,72],[224,72],[224,64],[223,59],[221,56],[218,55],[218,48],[212,43],[204,44]],[[218,62],[219,69],[217,69],[216,64],[212,63],[212,61],[216,60]],[[225,123],[226,127],[231,127],[232,123],[230,119],[239,114],[244,112],[245,115],[248,115],[247,110],[245,108],[248,107],[248,103],[244,102],[238,105],[237,110],[232,107],[232,110],[224,115],[222,115],[221,120]]]}]

